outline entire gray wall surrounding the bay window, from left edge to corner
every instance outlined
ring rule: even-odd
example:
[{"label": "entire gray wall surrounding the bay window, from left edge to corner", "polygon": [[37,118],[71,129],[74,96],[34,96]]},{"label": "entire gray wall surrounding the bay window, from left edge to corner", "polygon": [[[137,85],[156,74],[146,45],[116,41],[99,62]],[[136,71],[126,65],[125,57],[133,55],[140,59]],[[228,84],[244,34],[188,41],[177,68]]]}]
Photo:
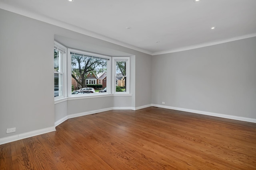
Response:
[{"label": "entire gray wall surrounding the bay window, from left edge to corner", "polygon": [[[151,55],[2,9],[0,22],[0,139],[54,127],[54,122],[69,114],[118,106],[135,107],[136,103],[151,104],[148,100],[151,98]],[[68,100],[54,106],[54,35],[134,55],[131,57],[132,96]],[[146,67],[147,74],[141,65]],[[136,74],[142,74],[140,72],[144,75],[136,78]],[[148,88],[144,89],[147,100],[135,95],[137,84],[144,82],[148,83]],[[6,134],[6,129],[12,127],[16,127],[16,133]]]}]

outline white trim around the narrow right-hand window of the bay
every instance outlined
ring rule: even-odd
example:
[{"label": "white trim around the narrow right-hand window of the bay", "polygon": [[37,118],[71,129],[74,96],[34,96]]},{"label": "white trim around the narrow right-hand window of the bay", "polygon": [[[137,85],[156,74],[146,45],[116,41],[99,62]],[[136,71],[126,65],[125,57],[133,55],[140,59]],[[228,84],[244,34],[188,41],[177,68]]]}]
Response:
[{"label": "white trim around the narrow right-hand window of the bay", "polygon": [[[116,92],[116,61],[126,61],[126,92]],[[112,57],[112,80],[113,94],[130,94],[130,57]]]}]

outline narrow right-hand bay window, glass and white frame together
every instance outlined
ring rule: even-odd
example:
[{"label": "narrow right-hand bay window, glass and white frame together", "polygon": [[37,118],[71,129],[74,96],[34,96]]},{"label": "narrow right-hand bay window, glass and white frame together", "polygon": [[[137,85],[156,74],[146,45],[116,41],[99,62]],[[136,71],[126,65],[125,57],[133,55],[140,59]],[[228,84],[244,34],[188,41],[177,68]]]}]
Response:
[{"label": "narrow right-hand bay window, glass and white frame together", "polygon": [[116,87],[113,87],[113,92],[130,93],[130,58],[113,57],[112,59],[113,79],[116,80]]}]

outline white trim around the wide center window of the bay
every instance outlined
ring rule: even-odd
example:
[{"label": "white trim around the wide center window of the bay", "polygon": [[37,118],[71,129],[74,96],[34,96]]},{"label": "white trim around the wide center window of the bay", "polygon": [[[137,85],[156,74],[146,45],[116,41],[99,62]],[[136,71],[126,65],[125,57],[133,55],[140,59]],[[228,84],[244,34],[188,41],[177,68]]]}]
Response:
[{"label": "white trim around the wide center window of the bay", "polygon": [[111,94],[111,60],[112,60],[112,57],[109,57],[109,56],[106,56],[106,55],[100,55],[100,54],[95,54],[95,53],[90,53],[90,52],[87,52],[87,51],[82,51],[82,50],[76,50],[76,49],[68,49],[68,57],[67,57],[67,63],[68,63],[68,69],[67,69],[67,79],[68,79],[68,97],[72,97],[72,98],[76,98],[76,97],[81,97],[81,96],[94,96],[94,95],[103,95],[103,94],[92,94],[92,93],[88,93],[88,94],[81,94],[81,95],[72,95],[71,94],[71,88],[72,88],[72,83],[71,83],[71,55],[70,55],[70,52],[74,52],[74,53],[82,53],[82,54],[85,54],[85,55],[89,55],[89,56],[94,56],[94,57],[100,57],[100,58],[105,58],[105,59],[108,59],[108,64],[107,64],[107,82],[106,82],[106,85],[107,85],[107,94]]}]

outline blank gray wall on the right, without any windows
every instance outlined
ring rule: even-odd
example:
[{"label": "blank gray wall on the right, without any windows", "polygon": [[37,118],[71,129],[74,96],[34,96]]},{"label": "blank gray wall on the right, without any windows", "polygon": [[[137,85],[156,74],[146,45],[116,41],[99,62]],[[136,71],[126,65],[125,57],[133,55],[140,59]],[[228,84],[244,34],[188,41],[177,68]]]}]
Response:
[{"label": "blank gray wall on the right, without any windows", "polygon": [[256,37],[152,58],[152,104],[256,118]]}]

